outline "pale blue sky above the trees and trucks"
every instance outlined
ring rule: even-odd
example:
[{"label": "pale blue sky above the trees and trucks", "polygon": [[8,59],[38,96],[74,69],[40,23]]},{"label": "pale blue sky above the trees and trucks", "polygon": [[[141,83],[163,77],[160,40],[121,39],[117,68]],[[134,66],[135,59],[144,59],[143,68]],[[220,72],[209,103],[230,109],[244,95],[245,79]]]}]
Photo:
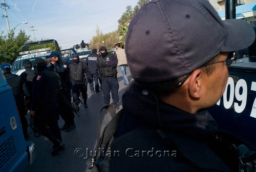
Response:
[{"label": "pale blue sky above the trees and trucks", "polygon": [[[16,26],[15,35],[22,29],[33,41],[55,39],[63,50],[80,44],[81,40],[89,43],[96,36],[97,26],[103,34],[117,30],[117,21],[126,7],[134,8],[139,0],[4,1],[10,6],[7,16],[10,30]],[[4,9],[0,8],[0,12],[5,15]],[[28,24],[20,24],[23,22]],[[0,32],[8,34],[6,17],[0,18]]]}]

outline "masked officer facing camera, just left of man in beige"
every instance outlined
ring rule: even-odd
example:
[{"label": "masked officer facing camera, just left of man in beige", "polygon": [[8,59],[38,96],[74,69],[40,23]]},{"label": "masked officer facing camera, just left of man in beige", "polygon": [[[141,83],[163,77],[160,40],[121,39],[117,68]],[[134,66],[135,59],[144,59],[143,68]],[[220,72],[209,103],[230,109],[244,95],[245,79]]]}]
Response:
[{"label": "masked officer facing camera, just left of man in beige", "polygon": [[108,53],[103,46],[99,49],[100,56],[97,59],[97,67],[99,75],[102,78],[101,89],[104,94],[104,103],[110,104],[110,92],[112,93],[112,99],[116,110],[119,110],[118,102],[118,89],[119,84],[117,80],[117,58],[112,53]]}]

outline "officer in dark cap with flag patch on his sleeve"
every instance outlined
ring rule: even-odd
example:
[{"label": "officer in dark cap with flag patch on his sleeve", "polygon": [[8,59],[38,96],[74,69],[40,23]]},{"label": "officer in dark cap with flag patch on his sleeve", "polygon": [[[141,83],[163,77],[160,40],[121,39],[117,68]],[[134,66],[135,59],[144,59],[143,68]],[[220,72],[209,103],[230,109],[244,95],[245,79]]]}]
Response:
[{"label": "officer in dark cap with flag patch on his sleeve", "polygon": [[[59,53],[57,51],[52,51],[46,58],[49,59],[51,64],[54,67],[54,72],[57,72],[61,79],[61,94],[70,102],[71,104],[71,85],[69,80],[69,66],[68,63],[63,61],[59,57]],[[71,109],[67,106],[65,101],[58,99],[59,104],[59,114],[61,118],[65,121],[65,124],[60,128],[60,130],[66,130],[66,132],[70,132],[73,130],[76,125],[74,123],[75,115]]]}]

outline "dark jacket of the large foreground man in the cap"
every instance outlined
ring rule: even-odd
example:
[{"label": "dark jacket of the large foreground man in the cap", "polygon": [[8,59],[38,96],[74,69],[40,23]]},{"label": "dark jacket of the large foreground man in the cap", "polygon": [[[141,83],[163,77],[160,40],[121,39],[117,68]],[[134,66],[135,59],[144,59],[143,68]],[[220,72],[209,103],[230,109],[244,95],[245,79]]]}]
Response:
[{"label": "dark jacket of the large foreground man in the cap", "polygon": [[215,139],[217,124],[207,111],[184,112],[150,93],[142,94],[134,82],[122,102],[123,119],[111,144],[112,157],[99,162],[99,171],[238,169],[234,152]]}]

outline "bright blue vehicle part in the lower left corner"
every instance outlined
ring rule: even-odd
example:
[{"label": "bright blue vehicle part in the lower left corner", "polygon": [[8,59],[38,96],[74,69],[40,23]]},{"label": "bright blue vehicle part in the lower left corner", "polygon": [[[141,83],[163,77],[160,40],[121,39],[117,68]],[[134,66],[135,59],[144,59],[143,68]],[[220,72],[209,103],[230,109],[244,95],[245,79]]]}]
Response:
[{"label": "bright blue vehicle part in the lower left corner", "polygon": [[0,70],[0,171],[24,171],[35,159],[35,144],[25,141],[11,87]]}]

